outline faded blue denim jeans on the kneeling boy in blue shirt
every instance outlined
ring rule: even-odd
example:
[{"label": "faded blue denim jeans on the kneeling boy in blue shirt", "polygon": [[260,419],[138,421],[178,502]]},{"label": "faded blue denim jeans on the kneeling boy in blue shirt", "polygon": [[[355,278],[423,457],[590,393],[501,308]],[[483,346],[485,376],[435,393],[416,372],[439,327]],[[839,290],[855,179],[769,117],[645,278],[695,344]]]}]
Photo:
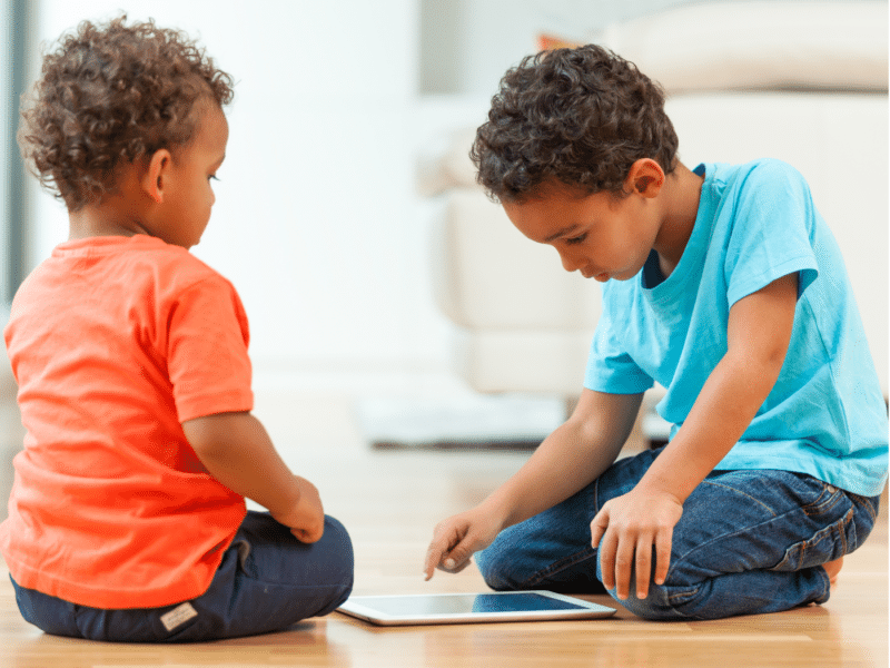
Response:
[{"label": "faded blue denim jeans on the kneeling boy in blue shirt", "polygon": [[[606,501],[636,485],[659,452],[619,460],[574,497],[502,531],[476,554],[488,586],[604,593],[590,523]],[[829,578],[820,564],[862,544],[878,500],[802,473],[714,471],[683,504],[664,584],[652,582],[649,596],[637,599],[632,581],[630,597],[619,602],[659,620],[823,603]],[[614,590],[609,593],[615,598]]]}]

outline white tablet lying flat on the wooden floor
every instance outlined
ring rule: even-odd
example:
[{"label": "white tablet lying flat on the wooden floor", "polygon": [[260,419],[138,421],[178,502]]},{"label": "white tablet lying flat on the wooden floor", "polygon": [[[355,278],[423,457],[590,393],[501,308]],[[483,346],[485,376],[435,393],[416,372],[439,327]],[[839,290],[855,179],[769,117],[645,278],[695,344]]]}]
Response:
[{"label": "white tablet lying flat on the wooden floor", "polygon": [[354,596],[337,609],[380,626],[591,619],[615,613],[614,608],[552,591]]}]

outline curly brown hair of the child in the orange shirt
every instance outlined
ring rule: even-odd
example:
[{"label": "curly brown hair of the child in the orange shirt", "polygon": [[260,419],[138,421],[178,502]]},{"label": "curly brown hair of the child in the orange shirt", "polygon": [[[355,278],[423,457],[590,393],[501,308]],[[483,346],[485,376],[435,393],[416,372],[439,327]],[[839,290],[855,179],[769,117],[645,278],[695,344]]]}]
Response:
[{"label": "curly brown hair of the child in the orange shirt", "polygon": [[185,33],[126,20],[63,35],[23,105],[22,156],[72,212],[113,191],[118,165],[188,144],[197,101],[233,98],[231,77]]}]

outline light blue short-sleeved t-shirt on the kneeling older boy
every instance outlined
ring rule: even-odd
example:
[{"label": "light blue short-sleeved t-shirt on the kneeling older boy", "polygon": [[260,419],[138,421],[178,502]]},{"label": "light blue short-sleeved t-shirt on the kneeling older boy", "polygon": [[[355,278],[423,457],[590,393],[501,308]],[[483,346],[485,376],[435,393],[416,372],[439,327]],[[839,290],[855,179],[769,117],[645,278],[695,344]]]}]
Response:
[{"label": "light blue short-sleeved t-shirt on the kneeling older boy", "polygon": [[803,177],[779,160],[700,165],[692,235],[659,282],[657,256],[630,281],[603,285],[603,314],[584,385],[614,394],[659,382],[673,438],[726,352],[730,307],[798,273],[782,371],[718,469],[809,473],[876,495],[887,481],[887,409],[838,244]]}]

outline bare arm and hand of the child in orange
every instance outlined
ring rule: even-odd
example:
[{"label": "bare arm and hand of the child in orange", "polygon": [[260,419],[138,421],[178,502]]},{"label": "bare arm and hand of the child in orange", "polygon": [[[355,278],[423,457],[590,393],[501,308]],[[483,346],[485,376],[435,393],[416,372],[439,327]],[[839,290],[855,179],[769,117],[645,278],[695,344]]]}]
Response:
[{"label": "bare arm and hand of the child in orange", "polygon": [[210,475],[267,508],[300,541],[322,538],[318,490],[290,472],[259,420],[250,413],[219,413],[188,420],[182,431]]}]

